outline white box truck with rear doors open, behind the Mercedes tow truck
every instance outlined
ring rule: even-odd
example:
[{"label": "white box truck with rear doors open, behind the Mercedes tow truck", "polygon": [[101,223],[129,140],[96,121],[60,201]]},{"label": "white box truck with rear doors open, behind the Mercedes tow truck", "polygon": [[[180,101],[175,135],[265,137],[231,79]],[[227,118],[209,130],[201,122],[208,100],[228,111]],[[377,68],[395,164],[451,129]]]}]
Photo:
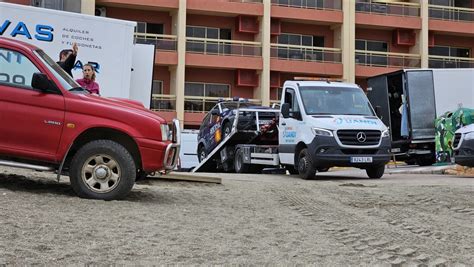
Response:
[{"label": "white box truck with rear doors open, behind the Mercedes tow truck", "polygon": [[435,119],[474,107],[474,69],[407,69],[371,77],[368,98],[390,128],[399,160],[435,162]]}]

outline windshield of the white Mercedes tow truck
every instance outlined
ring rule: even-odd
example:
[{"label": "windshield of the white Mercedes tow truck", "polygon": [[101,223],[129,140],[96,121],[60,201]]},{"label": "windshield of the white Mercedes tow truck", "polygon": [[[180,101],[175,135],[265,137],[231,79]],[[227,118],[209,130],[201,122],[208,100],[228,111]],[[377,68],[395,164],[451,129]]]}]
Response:
[{"label": "windshield of the white Mercedes tow truck", "polygon": [[308,115],[375,115],[360,88],[301,86],[300,92]]}]

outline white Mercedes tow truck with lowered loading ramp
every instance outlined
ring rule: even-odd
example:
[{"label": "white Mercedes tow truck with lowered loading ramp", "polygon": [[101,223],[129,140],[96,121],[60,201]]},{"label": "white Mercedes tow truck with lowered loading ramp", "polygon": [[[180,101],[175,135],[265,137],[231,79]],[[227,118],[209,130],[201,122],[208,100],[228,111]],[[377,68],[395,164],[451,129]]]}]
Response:
[{"label": "white Mercedes tow truck with lowered loading ramp", "polygon": [[[303,179],[312,179],[318,171],[347,166],[365,169],[371,178],[383,176],[385,164],[390,161],[389,131],[359,86],[286,81],[281,99],[280,110],[235,110],[232,131],[193,171],[212,171],[222,166],[226,171],[247,172],[283,166]],[[263,122],[259,118],[268,117],[271,112],[276,112],[278,122],[270,124],[277,123],[278,133],[270,144],[265,135],[275,133],[265,132],[268,119]],[[253,121],[255,128],[242,130],[237,127],[239,120]],[[213,132],[216,136],[209,138],[217,138],[223,129]]]}]

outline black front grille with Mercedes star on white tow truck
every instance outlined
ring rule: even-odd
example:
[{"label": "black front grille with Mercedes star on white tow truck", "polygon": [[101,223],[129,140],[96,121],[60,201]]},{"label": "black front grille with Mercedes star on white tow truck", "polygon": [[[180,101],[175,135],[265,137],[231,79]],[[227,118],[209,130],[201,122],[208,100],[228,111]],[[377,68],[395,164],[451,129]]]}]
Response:
[{"label": "black front grille with Mercedes star on white tow truck", "polygon": [[337,137],[346,146],[373,146],[380,142],[378,130],[338,130]]}]

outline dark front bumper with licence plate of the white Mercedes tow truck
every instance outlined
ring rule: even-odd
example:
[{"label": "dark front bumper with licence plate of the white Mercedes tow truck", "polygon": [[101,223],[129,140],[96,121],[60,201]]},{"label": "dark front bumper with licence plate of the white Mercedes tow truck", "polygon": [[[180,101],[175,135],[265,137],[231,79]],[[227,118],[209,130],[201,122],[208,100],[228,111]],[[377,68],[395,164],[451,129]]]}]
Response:
[{"label": "dark front bumper with licence plate of the white Mercedes tow truck", "polygon": [[317,136],[308,149],[318,168],[340,166],[364,169],[390,161],[390,138],[382,138],[377,148],[345,148],[339,146],[334,137]]}]

